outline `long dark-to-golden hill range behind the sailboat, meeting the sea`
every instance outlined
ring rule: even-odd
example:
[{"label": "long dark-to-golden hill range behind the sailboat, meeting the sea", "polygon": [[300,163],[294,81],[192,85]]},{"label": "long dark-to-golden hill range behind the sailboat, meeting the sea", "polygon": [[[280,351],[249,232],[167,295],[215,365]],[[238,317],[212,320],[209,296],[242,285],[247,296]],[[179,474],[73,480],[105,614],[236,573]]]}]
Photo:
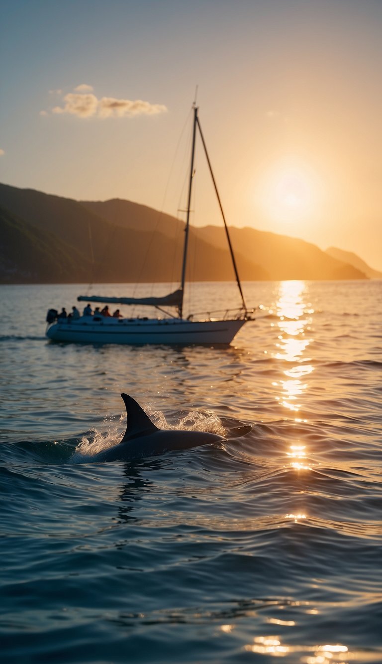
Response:
[{"label": "long dark-to-golden hill range behind the sailboat, meeting the sea", "polygon": [[[79,203],[9,185],[0,185],[0,205],[9,210],[2,217],[3,283],[180,281],[184,223],[168,214],[119,199]],[[243,280],[365,278],[303,240],[253,228],[232,227],[230,234]],[[234,279],[223,228],[191,228],[188,248],[189,280]]]}]

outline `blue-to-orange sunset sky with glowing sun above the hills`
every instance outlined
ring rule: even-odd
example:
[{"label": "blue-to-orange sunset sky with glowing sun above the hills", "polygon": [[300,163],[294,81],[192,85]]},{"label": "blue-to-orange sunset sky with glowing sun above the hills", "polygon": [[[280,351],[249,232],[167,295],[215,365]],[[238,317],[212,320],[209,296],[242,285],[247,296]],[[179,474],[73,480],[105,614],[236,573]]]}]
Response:
[{"label": "blue-to-orange sunset sky with glowing sun above the hills", "polygon": [[381,35],[381,0],[1,0],[0,181],[184,218],[198,86],[227,223],[382,270]]}]

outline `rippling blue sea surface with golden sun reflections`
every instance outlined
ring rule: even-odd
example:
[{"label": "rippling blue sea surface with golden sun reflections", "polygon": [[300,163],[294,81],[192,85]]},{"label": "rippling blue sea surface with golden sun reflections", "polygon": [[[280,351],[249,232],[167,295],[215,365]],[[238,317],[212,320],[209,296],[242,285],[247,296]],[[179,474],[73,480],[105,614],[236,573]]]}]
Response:
[{"label": "rippling blue sea surface with golden sun reflections", "polygon": [[[5,663],[382,662],[382,282],[243,288],[230,346],[128,347],[46,340],[84,286],[0,287]],[[96,463],[121,392],[162,428],[253,428]]]}]

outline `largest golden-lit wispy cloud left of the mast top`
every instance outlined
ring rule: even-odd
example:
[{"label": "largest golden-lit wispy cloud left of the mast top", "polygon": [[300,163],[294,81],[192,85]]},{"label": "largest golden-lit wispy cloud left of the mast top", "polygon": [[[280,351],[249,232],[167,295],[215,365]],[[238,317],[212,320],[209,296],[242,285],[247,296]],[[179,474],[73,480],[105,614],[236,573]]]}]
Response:
[{"label": "largest golden-lit wispy cloud left of the mast top", "polygon": [[[69,114],[77,116],[77,118],[126,118],[141,115],[152,116],[167,110],[166,106],[162,104],[151,104],[141,99],[129,100],[115,97],[98,99],[95,94],[90,92],[91,90],[93,90],[92,86],[86,83],[77,86],[74,88],[74,92],[69,92],[62,98],[61,106],[52,108],[52,114]],[[46,111],[40,111],[40,115],[46,114]]]}]

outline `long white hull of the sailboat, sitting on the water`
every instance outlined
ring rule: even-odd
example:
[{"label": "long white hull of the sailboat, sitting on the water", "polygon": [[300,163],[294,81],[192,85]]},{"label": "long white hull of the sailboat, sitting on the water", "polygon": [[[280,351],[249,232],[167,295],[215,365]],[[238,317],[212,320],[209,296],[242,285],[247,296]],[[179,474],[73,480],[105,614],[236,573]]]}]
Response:
[{"label": "long white hull of the sailboat, sitting on the water", "polygon": [[117,319],[82,316],[50,325],[52,341],[72,343],[192,344],[230,343],[245,319],[186,321],[183,319]]}]

